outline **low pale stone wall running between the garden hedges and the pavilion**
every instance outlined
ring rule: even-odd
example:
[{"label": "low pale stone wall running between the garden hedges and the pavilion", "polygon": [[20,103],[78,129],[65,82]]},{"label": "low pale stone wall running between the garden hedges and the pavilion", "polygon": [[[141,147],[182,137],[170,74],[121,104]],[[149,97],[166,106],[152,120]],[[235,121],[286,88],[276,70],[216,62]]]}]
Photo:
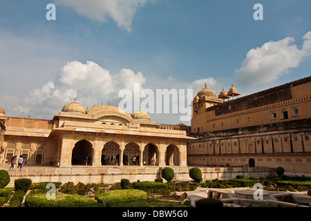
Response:
[{"label": "low pale stone wall running between the garden hedges and the pavilion", "polygon": [[[189,169],[187,166],[169,166],[175,172],[174,180],[191,181],[189,177]],[[232,179],[236,175],[244,175],[247,177],[265,177],[270,175],[269,168],[248,168],[244,167],[216,167],[207,168],[199,167],[202,171],[203,181],[214,179]],[[32,182],[78,182],[114,184],[120,182],[121,179],[129,179],[130,182],[154,181],[161,177],[162,167],[160,166],[74,166],[74,167],[55,167],[55,166],[23,166],[23,169],[15,169],[11,171],[8,168],[0,168],[8,170],[10,174],[10,184],[7,187],[14,187],[14,181],[20,178],[30,178]]]}]

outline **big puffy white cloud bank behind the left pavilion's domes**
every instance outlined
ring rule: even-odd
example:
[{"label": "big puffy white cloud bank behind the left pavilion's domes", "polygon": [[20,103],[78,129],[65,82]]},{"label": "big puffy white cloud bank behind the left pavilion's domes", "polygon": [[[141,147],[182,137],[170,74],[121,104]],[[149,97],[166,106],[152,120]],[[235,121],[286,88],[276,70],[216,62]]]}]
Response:
[{"label": "big puffy white cloud bank behind the left pavilion's domes", "polygon": [[4,95],[0,97],[0,104],[4,104],[1,107],[11,116],[50,119],[75,98],[85,108],[102,102],[108,104],[117,101],[120,89],[133,90],[134,83],[142,88],[145,82],[142,73],[134,73],[130,69],[124,68],[120,73],[111,75],[109,70],[93,61],[86,64],[70,61],[59,69],[54,81],[31,90],[25,97]]}]

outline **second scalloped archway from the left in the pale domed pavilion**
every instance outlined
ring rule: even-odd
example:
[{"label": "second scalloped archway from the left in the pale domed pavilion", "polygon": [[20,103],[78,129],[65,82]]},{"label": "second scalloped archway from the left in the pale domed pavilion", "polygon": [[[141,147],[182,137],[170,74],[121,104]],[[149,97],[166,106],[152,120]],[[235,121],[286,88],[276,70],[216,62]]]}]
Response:
[{"label": "second scalloped archway from the left in the pale domed pavilion", "polygon": [[120,145],[109,141],[102,149],[102,165],[120,165]]}]

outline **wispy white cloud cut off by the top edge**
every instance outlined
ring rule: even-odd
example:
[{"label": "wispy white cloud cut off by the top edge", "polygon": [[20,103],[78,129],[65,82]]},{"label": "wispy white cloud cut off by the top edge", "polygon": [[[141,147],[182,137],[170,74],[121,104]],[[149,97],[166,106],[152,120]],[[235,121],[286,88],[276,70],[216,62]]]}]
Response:
[{"label": "wispy white cloud cut off by the top edge", "polygon": [[[107,21],[112,18],[117,26],[131,31],[131,25],[138,8],[148,0],[54,0],[55,3],[71,7],[81,15],[95,21]],[[153,1],[151,1],[153,2]]]}]

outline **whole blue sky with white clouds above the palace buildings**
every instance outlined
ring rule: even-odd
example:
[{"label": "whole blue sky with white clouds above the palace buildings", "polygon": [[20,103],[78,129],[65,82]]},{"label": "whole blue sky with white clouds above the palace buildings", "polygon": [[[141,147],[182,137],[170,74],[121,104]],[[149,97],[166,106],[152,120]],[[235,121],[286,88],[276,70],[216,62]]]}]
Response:
[{"label": "whole blue sky with white clouds above the palace buildings", "polygon": [[[48,3],[56,21],[46,19]],[[310,8],[305,0],[1,0],[0,106],[51,119],[75,97],[85,107],[117,105],[133,83],[194,96],[205,83],[217,94],[234,84],[242,95],[285,84],[310,75]],[[178,114],[151,118],[179,123]]]}]

